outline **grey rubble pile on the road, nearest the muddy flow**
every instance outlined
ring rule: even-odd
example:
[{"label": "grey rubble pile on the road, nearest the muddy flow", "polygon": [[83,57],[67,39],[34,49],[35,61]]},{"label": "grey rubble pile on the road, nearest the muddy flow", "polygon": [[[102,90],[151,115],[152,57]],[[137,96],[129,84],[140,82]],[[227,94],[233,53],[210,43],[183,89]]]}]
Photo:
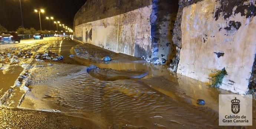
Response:
[{"label": "grey rubble pile on the road, nearest the muddy flow", "polygon": [[53,60],[59,61],[63,60],[63,56],[58,56],[58,54],[53,53],[51,51],[47,51],[45,53],[37,53],[35,56],[36,61],[44,62],[45,60]]}]

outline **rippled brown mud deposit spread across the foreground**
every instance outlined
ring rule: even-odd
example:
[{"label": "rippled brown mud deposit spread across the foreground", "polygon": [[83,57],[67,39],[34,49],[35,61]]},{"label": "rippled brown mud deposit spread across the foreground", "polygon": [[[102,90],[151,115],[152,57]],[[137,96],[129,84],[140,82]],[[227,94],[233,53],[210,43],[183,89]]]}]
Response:
[{"label": "rippled brown mud deposit spread across the foreground", "polygon": [[[217,118],[209,116],[215,114],[210,108],[178,102],[135,80],[109,82],[92,77],[86,72],[86,67],[80,69],[80,72],[55,81],[32,86],[20,107],[60,110],[108,127],[191,128],[217,125]],[[171,120],[182,124],[173,124]]]}]

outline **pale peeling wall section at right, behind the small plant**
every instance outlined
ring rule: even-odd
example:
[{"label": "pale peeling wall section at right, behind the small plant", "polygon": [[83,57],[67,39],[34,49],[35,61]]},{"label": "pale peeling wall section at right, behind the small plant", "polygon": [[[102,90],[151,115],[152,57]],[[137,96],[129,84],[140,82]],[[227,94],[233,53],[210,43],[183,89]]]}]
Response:
[{"label": "pale peeling wall section at right, behind the small plant", "polygon": [[246,93],[256,53],[255,0],[180,0],[174,29],[177,73],[209,82],[225,67],[220,86]]}]

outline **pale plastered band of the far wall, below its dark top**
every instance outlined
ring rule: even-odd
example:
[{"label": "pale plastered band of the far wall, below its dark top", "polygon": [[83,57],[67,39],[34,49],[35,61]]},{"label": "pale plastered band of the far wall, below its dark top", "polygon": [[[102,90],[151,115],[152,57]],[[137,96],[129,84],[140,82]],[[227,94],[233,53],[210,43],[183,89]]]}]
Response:
[{"label": "pale plastered band of the far wall, below its dark top", "polygon": [[[152,6],[75,26],[75,37],[86,43],[135,56],[135,45],[150,49]],[[91,31],[91,39],[86,38]]]}]

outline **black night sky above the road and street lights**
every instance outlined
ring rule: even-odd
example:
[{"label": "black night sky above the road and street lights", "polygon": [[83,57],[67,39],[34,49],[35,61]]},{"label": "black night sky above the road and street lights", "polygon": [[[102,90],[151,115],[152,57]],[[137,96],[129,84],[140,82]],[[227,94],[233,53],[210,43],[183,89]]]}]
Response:
[{"label": "black night sky above the road and street lights", "polygon": [[[41,13],[42,30],[56,30],[56,24],[50,21],[49,26],[46,16],[53,16],[55,21],[72,28],[73,18],[85,2],[86,0],[21,0],[24,27],[40,30],[39,14],[34,10],[45,9],[45,13]],[[22,26],[19,0],[0,0],[0,24],[9,31]]]}]

